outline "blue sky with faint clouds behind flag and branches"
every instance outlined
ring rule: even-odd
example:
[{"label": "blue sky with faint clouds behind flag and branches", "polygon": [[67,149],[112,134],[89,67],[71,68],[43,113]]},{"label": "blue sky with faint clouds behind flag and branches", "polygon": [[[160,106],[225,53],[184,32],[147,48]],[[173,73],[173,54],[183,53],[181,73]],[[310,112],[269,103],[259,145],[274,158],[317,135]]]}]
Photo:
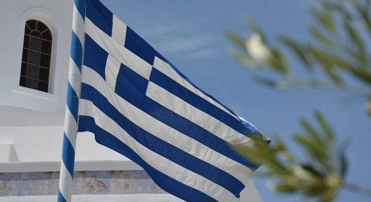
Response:
[{"label": "blue sky with faint clouds behind flag and branches", "polygon": [[[302,131],[297,119],[313,121],[320,110],[338,135],[352,144],[347,150],[349,182],[371,187],[371,124],[364,111],[364,99],[326,90],[278,91],[250,80],[253,73],[228,54],[232,44],[222,35],[229,29],[248,36],[244,16],[249,15],[273,40],[283,34],[311,40],[306,31],[310,21],[310,0],[249,1],[120,1],[101,2],[200,88],[245,118],[268,136],[278,133],[289,141],[292,132]],[[295,69],[300,63],[289,58]],[[264,73],[264,72],[261,72]],[[268,180],[254,177],[264,201],[301,201],[298,196],[282,196],[267,188]],[[369,201],[347,190],[337,201]]]}]

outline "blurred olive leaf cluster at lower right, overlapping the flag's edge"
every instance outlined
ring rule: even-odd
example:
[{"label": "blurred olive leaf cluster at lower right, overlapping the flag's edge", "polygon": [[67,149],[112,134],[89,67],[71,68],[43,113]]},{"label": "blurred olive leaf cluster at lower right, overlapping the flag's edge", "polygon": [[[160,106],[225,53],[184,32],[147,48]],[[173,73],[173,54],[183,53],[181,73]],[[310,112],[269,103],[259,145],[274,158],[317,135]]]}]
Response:
[{"label": "blurred olive leaf cluster at lower right, overlapping the flag's edge", "polygon": [[295,133],[292,138],[305,150],[306,162],[302,162],[279,136],[274,135],[272,143],[255,139],[256,146],[240,147],[238,150],[250,161],[263,164],[263,171],[256,175],[274,179],[271,189],[277,192],[301,192],[306,197],[318,196],[320,201],[331,201],[337,190],[344,185],[347,173],[345,149],[349,141],[339,148],[335,147],[335,134],[324,117],[315,112],[319,128],[305,119],[300,123],[304,133]]}]

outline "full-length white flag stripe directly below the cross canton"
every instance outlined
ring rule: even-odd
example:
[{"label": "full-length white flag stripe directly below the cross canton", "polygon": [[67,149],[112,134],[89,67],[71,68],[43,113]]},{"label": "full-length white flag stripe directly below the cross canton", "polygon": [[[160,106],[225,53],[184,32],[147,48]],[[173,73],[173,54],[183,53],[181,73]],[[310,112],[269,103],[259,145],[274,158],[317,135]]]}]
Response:
[{"label": "full-length white flag stripe directly below the cross canton", "polygon": [[[128,103],[125,99],[114,92],[114,89],[107,87],[103,78],[89,67],[83,66],[83,83],[91,85],[108,99],[123,116],[131,122],[144,129],[145,131],[159,137],[160,139],[172,144],[186,153],[197,157],[204,162],[223,170],[242,183],[247,183],[252,171],[244,165],[217,153],[215,150],[196,141],[195,139],[180,133],[179,131],[165,125],[154,117],[144,113],[140,109]],[[83,105],[83,103],[81,104]],[[81,106],[80,108],[83,108]],[[203,112],[202,112],[203,113]],[[200,113],[201,114],[201,113]],[[140,117],[139,119],[137,117]],[[203,117],[203,116],[201,116]],[[151,124],[148,124],[151,123]],[[229,133],[227,133],[229,134]],[[240,134],[242,135],[242,134]],[[244,136],[244,139],[250,139]],[[188,142],[184,144],[184,142]]]}]

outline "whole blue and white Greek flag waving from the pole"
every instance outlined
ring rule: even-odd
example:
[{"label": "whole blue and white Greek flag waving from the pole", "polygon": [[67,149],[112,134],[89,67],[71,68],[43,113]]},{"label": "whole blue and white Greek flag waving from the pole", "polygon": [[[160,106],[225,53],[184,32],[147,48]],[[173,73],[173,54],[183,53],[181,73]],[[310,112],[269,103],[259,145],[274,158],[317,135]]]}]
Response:
[{"label": "whole blue and white Greek flag waving from the pole", "polygon": [[235,201],[258,167],[231,144],[262,135],[194,85],[98,0],[86,1],[78,130],[187,201]]}]

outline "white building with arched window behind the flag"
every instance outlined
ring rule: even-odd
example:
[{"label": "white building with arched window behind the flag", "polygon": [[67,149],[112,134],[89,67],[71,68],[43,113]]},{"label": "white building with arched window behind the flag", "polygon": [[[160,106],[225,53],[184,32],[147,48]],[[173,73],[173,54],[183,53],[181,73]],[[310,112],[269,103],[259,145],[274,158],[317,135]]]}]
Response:
[{"label": "white building with arched window behind the flag", "polygon": [[[0,1],[0,201],[57,199],[72,5]],[[72,201],[181,201],[93,134],[76,148]],[[241,201],[262,201],[252,182]]]}]

